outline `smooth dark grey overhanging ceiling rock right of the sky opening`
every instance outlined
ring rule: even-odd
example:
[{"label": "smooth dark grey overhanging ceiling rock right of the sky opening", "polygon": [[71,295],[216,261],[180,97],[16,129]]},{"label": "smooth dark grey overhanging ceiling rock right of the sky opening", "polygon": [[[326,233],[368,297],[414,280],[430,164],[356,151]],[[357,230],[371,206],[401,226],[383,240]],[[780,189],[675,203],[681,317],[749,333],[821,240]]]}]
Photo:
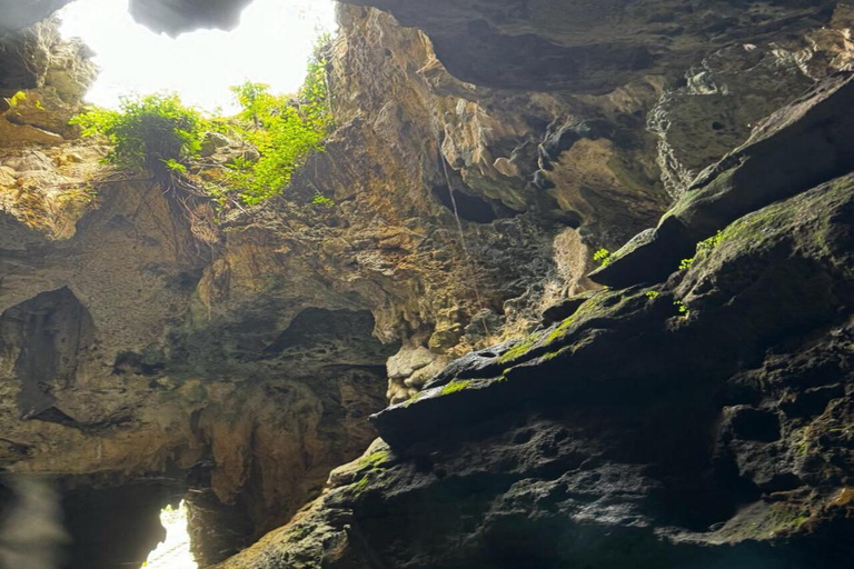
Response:
[{"label": "smooth dark grey overhanging ceiling rock right of the sky opening", "polygon": [[[604,93],[681,72],[698,54],[827,21],[833,1],[355,0],[430,37],[454,76],[476,84]],[[701,56],[702,57],[702,56]]]}]

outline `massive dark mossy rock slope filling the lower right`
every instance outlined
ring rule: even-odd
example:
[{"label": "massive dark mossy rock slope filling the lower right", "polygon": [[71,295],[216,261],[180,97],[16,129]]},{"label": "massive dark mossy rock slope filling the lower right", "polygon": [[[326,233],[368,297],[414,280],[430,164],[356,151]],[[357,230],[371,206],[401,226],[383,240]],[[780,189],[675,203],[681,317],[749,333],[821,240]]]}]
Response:
[{"label": "massive dark mossy rock slope filling the lower right", "polygon": [[844,563],[854,177],[723,236],[657,296],[602,292],[497,350],[500,378],[384,411],[390,449],[218,567]]}]

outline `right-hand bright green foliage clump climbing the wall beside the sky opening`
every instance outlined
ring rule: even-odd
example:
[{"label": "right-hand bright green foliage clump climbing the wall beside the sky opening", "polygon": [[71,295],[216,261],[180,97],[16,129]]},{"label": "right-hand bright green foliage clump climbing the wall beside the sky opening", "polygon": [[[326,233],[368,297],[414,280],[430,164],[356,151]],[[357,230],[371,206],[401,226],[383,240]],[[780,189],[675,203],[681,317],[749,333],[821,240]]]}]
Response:
[{"label": "right-hand bright green foliage clump climbing the wall beside the sky opening", "polygon": [[[242,108],[238,118],[250,123],[240,129],[240,134],[260,158],[255,163],[232,161],[228,182],[239,188],[246,203],[252,204],[279,194],[308,157],[324,150],[332,116],[322,50],[316,50],[306,82],[294,98],[276,96],[268,86],[255,82],[234,87],[232,91]],[[312,203],[329,204],[331,200],[327,199],[316,197]]]}]

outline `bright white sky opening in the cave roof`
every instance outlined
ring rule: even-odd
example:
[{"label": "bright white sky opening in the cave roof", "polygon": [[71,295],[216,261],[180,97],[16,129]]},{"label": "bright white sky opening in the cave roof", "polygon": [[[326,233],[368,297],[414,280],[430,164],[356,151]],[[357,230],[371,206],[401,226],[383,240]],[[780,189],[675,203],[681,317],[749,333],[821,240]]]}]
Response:
[{"label": "bright white sky opening in the cave roof", "polygon": [[208,112],[237,110],[229,87],[268,83],[275,92],[302,84],[314,46],[336,29],[331,0],[254,0],[231,31],[170,38],[137,23],[128,0],[77,0],[60,12],[64,38],[81,38],[101,72],[87,101],[115,109],[130,93],[177,92]]}]

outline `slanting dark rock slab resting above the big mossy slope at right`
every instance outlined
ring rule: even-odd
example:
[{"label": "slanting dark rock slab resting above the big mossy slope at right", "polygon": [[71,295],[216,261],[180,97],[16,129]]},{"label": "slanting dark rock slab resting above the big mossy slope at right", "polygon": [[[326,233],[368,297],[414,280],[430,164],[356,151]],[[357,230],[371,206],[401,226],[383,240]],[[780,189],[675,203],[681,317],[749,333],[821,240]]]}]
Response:
[{"label": "slanting dark rock slab resting above the big mossy slope at right", "polygon": [[727,223],[773,201],[854,168],[854,76],[837,73],[774,112],[751,138],[707,168],[652,232],[617,251],[590,278],[627,287],[665,279],[695,244]]}]

